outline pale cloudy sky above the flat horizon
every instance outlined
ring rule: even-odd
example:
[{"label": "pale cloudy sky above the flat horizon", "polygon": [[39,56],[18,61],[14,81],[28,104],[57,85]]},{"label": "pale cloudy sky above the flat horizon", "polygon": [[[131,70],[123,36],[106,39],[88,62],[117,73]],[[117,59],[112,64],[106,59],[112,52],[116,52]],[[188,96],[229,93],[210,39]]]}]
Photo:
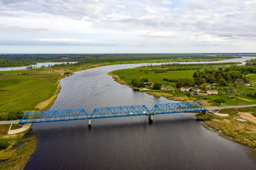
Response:
[{"label": "pale cloudy sky above the flat horizon", "polygon": [[255,0],[0,0],[0,53],[256,52]]}]

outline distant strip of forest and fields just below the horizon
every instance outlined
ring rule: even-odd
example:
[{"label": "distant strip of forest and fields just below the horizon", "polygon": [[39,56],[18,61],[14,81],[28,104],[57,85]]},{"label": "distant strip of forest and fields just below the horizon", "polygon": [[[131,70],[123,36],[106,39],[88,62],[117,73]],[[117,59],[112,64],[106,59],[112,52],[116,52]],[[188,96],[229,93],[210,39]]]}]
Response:
[{"label": "distant strip of forest and fields just below the horizon", "polygon": [[[214,55],[214,54],[212,54]],[[129,64],[140,62],[212,61],[235,58],[234,54],[117,53],[117,54],[3,54],[0,67],[29,66],[36,62],[79,61],[82,64]],[[250,56],[250,54],[244,54]]]}]

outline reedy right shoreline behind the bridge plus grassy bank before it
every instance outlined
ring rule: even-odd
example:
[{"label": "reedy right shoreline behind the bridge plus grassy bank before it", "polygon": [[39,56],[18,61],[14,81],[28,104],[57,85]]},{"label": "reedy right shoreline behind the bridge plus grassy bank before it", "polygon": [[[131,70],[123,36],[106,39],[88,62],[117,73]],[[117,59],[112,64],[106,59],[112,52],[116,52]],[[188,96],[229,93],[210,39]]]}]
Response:
[{"label": "reedy right shoreline behind the bridge plus grassy bank before it", "polygon": [[[163,90],[151,90],[151,89],[139,89],[132,87],[131,84],[127,83],[120,78],[119,75],[114,74],[113,72],[109,72],[109,75],[113,76],[113,79],[123,85],[129,85],[134,90],[138,90],[139,92],[145,92],[154,97],[165,97],[169,100],[174,101],[184,101],[191,102],[195,101],[193,97],[181,96],[175,97],[173,94],[166,93]],[[123,75],[124,78],[124,75]],[[205,107],[212,106],[212,103],[209,101],[201,99],[196,100],[200,101],[204,104]],[[256,107],[252,108],[230,108],[221,110],[220,113],[229,114],[229,117],[218,117],[216,115],[198,115],[197,118],[200,120],[205,120],[202,125],[207,129],[214,129],[215,132],[222,137],[235,141],[237,143],[241,143],[242,145],[248,146],[249,148],[253,148],[252,152],[255,152],[256,148],[256,117],[253,116],[253,113],[256,112]],[[245,121],[239,121],[245,120]]]}]

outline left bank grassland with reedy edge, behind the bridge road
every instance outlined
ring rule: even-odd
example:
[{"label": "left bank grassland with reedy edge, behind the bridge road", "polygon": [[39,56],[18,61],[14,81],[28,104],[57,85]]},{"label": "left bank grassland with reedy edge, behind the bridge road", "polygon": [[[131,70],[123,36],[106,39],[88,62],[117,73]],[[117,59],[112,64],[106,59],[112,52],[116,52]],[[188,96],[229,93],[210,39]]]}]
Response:
[{"label": "left bank grassland with reedy edge, behind the bridge road", "polygon": [[0,71],[0,119],[10,111],[45,110],[60,91],[58,81],[74,71],[106,64],[54,66],[17,71]]}]

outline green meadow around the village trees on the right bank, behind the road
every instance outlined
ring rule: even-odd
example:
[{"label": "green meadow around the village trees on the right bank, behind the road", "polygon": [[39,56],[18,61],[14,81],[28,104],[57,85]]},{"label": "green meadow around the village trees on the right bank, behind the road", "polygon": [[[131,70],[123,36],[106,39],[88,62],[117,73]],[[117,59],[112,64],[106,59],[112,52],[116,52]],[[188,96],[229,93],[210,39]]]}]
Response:
[{"label": "green meadow around the village trees on the right bank, behind the road", "polygon": [[[198,67],[198,64],[185,64],[183,67],[147,66],[136,67],[132,69],[120,69],[113,71],[110,74],[114,77],[116,81],[122,82],[122,84],[130,85],[131,87],[131,82],[133,79],[140,80],[141,78],[147,78],[147,80],[150,82],[161,83],[162,86],[166,86],[169,88],[169,90],[153,90],[149,87],[150,85],[146,85],[145,88],[140,89],[141,92],[147,92],[148,94],[155,97],[163,96],[168,99],[174,99],[184,102],[200,101],[205,104],[205,106],[236,106],[256,103],[255,98],[246,96],[246,94],[255,93],[256,87],[246,87],[240,84],[234,85],[232,83],[228,83],[228,85],[224,87],[214,87],[214,89],[217,89],[219,91],[217,95],[209,95],[204,97],[200,97],[198,95],[190,96],[189,92],[180,92],[180,89],[177,89],[175,87],[179,78],[192,77],[197,70],[202,71],[204,69],[209,69],[209,67],[211,67],[211,69],[218,69],[217,66],[218,65],[202,65]],[[173,70],[176,68],[187,70]],[[256,77],[256,74],[251,74],[250,76]],[[231,93],[230,90],[236,90],[236,92]],[[219,101],[225,101],[225,103],[221,105],[221,103],[218,102],[218,99]]]}]

